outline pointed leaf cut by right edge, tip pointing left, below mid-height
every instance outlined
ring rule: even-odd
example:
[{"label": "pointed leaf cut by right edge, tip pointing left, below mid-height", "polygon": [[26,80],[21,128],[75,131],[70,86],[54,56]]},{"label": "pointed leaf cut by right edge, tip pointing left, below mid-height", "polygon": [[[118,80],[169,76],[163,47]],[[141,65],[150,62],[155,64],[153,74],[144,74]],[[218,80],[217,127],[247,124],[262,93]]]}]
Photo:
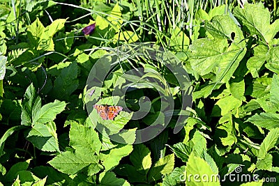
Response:
[{"label": "pointed leaf cut by right edge, tip pointing left, below mid-height", "polygon": [[279,114],[261,113],[255,114],[248,118],[248,121],[254,123],[258,127],[264,127],[268,130],[279,127]]}]

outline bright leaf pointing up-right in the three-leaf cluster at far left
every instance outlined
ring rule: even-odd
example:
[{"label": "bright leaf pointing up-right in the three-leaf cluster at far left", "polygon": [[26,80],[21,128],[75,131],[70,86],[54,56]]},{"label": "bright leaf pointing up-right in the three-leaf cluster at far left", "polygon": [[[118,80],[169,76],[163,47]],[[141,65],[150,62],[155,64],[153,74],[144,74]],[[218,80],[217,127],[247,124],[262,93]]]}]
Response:
[{"label": "bright leaf pointing up-right in the three-leaf cluster at far left", "polygon": [[54,100],[54,102],[45,104],[34,116],[32,125],[53,121],[56,115],[61,113],[65,107],[66,102],[61,102],[59,100]]}]

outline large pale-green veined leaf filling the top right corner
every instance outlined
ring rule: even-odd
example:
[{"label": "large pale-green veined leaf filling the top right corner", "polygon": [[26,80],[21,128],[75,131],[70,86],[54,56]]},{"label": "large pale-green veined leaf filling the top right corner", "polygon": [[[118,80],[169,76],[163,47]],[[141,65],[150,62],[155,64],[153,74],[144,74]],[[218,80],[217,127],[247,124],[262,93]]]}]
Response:
[{"label": "large pale-green veined leaf filling the top right corner", "polygon": [[234,15],[247,27],[251,35],[259,36],[264,43],[269,43],[279,31],[279,20],[270,24],[271,15],[263,3],[246,3],[244,8],[236,7]]}]

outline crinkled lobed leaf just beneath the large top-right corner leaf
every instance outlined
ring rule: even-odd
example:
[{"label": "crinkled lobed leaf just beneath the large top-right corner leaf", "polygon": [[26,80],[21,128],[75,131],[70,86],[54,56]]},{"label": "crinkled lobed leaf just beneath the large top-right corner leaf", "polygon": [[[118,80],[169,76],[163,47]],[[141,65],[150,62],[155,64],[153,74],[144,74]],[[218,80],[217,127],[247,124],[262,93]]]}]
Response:
[{"label": "crinkled lobed leaf just beneath the large top-right corner leaf", "polygon": [[254,56],[248,59],[246,65],[252,77],[259,77],[259,70],[262,68],[262,65],[266,61],[266,54],[268,52],[268,48],[264,45],[258,45],[253,48]]}]

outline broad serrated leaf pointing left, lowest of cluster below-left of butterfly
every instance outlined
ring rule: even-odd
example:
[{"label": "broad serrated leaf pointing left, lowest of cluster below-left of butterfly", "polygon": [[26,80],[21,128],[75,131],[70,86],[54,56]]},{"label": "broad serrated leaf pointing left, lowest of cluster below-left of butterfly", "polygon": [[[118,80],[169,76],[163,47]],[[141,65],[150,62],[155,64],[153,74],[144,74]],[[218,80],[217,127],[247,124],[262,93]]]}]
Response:
[{"label": "broad serrated leaf pointing left, lowest of cluster below-left of butterfly", "polygon": [[96,166],[98,165],[98,161],[99,158],[96,155],[66,151],[57,155],[48,163],[62,173],[75,174],[89,165],[95,166],[97,173],[100,170]]}]

